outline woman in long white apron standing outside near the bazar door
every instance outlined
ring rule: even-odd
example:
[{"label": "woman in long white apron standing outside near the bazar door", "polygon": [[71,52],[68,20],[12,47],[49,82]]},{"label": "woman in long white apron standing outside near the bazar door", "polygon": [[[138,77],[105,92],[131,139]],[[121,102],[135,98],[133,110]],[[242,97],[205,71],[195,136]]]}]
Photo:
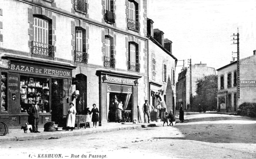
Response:
[{"label": "woman in long white apron standing outside near the bazar door", "polygon": [[[76,108],[74,107],[74,103],[69,103],[70,108],[68,109],[68,115],[67,115],[67,130],[75,128],[75,123],[76,123]],[[79,126],[79,125],[78,125]]]}]

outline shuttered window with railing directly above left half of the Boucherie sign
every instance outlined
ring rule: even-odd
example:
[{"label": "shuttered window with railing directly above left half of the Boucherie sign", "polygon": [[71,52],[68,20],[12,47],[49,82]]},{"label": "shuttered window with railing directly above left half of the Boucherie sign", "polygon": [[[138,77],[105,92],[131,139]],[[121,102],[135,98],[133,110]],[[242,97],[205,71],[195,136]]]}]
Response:
[{"label": "shuttered window with railing directly above left half of the Boucherie sign", "polygon": [[105,37],[105,56],[104,56],[104,66],[115,67],[115,59],[113,58],[113,38],[110,36]]}]

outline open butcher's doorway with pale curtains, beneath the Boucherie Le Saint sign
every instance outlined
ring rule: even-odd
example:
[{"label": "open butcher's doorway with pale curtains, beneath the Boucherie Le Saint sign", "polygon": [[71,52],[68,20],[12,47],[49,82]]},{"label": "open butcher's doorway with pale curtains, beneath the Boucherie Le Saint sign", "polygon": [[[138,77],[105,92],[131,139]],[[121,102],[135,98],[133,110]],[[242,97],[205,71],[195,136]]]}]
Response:
[{"label": "open butcher's doorway with pale curtains, beneath the Boucherie Le Saint sign", "polygon": [[108,122],[116,121],[116,106],[115,98],[118,102],[122,102],[122,119],[132,119],[132,94],[127,93],[114,93],[108,92],[109,94],[109,109],[108,109]]}]

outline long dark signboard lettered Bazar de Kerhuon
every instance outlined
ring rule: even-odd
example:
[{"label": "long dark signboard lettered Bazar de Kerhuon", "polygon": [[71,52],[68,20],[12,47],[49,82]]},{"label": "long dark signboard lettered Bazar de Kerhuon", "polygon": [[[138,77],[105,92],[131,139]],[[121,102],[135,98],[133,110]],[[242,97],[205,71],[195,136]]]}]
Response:
[{"label": "long dark signboard lettered Bazar de Kerhuon", "polygon": [[28,64],[11,64],[10,70],[22,73],[33,73],[39,75],[48,75],[54,77],[71,78],[71,71],[57,68],[48,68],[42,66],[31,66]]}]

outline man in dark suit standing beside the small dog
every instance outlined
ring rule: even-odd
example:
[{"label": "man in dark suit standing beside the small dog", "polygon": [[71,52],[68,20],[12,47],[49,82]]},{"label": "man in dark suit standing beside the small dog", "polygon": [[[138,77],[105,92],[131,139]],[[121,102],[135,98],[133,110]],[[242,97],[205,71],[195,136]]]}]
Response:
[{"label": "man in dark suit standing beside the small dog", "polygon": [[32,106],[30,107],[28,114],[28,123],[32,125],[32,131],[33,133],[40,133],[38,131],[38,123],[39,123],[39,106],[37,105],[38,101],[34,101],[35,104],[33,103]]}]

